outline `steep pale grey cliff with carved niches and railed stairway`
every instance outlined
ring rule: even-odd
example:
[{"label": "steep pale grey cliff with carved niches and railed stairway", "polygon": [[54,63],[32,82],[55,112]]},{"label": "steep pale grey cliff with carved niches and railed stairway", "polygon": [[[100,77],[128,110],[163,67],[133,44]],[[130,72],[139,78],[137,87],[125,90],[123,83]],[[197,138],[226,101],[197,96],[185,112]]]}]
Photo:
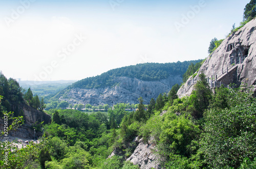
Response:
[{"label": "steep pale grey cliff with carved niches and railed stairway", "polygon": [[[251,20],[236,33],[226,38],[212,52],[201,66],[199,72],[209,77],[210,81],[222,82],[225,85],[247,83],[256,88],[256,19]],[[190,77],[178,91],[179,97],[188,96],[198,79]]]}]

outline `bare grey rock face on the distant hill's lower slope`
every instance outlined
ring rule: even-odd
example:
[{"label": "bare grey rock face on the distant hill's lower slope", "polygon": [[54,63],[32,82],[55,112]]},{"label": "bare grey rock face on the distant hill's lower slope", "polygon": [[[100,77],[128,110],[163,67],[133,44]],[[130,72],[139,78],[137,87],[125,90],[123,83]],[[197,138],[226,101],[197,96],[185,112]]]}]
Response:
[{"label": "bare grey rock face on the distant hill's lower slope", "polygon": [[117,104],[117,103],[138,103],[140,96],[144,104],[149,104],[151,98],[156,99],[160,93],[168,92],[176,83],[181,83],[180,76],[169,76],[160,81],[143,81],[130,77],[118,77],[114,79],[118,85],[98,89],[73,88],[66,91],[60,100],[77,104]]}]

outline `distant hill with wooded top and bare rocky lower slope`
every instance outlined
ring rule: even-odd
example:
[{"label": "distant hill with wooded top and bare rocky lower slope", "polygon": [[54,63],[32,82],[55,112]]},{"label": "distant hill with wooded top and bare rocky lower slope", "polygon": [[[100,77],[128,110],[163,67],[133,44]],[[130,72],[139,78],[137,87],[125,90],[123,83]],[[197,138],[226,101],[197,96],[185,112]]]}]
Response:
[{"label": "distant hill with wooded top and bare rocky lower slope", "polygon": [[88,77],[73,83],[60,91],[53,99],[65,100],[71,104],[138,103],[143,97],[148,104],[151,98],[167,93],[176,83],[182,82],[182,75],[188,66],[201,60],[177,63],[145,63],[110,70],[95,77]]}]

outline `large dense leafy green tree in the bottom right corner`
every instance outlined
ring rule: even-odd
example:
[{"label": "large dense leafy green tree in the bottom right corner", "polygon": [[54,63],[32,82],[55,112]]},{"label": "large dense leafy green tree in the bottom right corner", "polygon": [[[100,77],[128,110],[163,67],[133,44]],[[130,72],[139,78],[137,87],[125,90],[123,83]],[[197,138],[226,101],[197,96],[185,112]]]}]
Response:
[{"label": "large dense leafy green tree in the bottom right corner", "polygon": [[252,93],[244,87],[230,89],[224,109],[206,111],[200,151],[209,168],[239,168],[243,161],[256,157],[256,98]]}]

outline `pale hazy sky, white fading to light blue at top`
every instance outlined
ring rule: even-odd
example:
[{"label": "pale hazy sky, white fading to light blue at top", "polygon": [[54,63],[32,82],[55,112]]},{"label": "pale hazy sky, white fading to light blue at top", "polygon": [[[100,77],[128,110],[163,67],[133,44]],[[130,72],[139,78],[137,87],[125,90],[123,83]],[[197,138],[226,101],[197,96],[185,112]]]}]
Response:
[{"label": "pale hazy sky, white fading to light blue at top", "polygon": [[140,63],[205,59],[249,0],[0,0],[0,71],[80,80]]}]

